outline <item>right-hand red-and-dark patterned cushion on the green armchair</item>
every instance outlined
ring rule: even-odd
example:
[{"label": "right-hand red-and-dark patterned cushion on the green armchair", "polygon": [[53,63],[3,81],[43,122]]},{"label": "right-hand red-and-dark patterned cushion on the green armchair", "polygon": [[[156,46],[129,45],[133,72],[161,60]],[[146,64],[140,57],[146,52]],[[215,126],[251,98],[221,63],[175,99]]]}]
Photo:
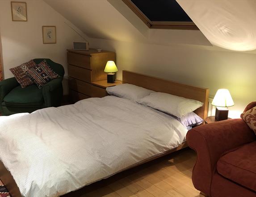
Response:
[{"label": "right-hand red-and-dark patterned cushion on the green armchair", "polygon": [[59,77],[57,73],[51,70],[46,60],[27,69],[25,74],[38,86],[38,88],[42,88],[42,86],[47,82],[50,82],[50,80]]}]

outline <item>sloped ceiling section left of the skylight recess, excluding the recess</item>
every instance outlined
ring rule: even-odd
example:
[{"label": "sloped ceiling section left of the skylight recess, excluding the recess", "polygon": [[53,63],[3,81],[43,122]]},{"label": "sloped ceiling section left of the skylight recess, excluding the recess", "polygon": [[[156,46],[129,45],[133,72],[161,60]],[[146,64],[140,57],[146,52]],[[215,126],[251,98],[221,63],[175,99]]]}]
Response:
[{"label": "sloped ceiling section left of the skylight recess, excluding the recess", "polygon": [[46,0],[46,3],[89,37],[120,41],[143,38],[106,0]]}]

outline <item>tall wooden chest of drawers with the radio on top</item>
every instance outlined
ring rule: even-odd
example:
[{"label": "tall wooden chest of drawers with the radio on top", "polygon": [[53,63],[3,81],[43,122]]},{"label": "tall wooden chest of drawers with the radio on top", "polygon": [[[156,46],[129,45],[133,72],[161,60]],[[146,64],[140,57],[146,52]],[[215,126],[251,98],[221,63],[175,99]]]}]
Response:
[{"label": "tall wooden chest of drawers with the radio on top", "polygon": [[72,103],[84,98],[107,95],[105,88],[92,82],[107,79],[105,65],[107,61],[115,61],[115,58],[115,53],[111,51],[67,49],[69,95]]}]

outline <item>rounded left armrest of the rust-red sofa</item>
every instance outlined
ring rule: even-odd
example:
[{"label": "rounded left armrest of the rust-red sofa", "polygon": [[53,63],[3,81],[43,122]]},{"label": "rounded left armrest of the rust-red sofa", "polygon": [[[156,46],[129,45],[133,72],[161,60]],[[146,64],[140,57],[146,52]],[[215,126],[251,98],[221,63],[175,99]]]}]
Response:
[{"label": "rounded left armrest of the rust-red sofa", "polygon": [[187,143],[197,152],[192,175],[195,188],[210,196],[210,184],[219,158],[254,140],[256,135],[242,119],[228,119],[188,131]]}]

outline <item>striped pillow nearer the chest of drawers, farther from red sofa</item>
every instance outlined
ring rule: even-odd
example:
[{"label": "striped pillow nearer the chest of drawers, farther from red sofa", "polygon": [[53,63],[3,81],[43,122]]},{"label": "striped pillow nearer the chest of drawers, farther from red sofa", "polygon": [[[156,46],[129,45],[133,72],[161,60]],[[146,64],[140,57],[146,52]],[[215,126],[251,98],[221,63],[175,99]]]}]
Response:
[{"label": "striped pillow nearer the chest of drawers, farther from red sofa", "polygon": [[133,101],[138,101],[140,98],[155,92],[140,86],[132,85],[130,83],[107,87],[106,90],[110,95],[115,95],[121,98],[128,98]]}]

